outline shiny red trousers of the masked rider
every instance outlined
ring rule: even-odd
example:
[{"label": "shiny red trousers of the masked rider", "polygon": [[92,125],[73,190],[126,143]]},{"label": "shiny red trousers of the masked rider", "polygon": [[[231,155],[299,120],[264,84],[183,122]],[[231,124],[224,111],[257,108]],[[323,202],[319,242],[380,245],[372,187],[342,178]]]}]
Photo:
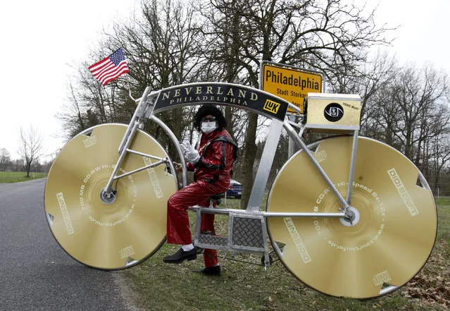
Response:
[{"label": "shiny red trousers of the masked rider", "polygon": [[[167,202],[167,243],[181,245],[192,243],[187,207],[194,205],[208,207],[209,199],[213,195],[225,193],[226,190],[208,181],[199,180],[174,193]],[[215,234],[214,214],[201,215],[200,231],[211,231]],[[204,262],[205,267],[217,265],[217,251],[205,249]]]}]

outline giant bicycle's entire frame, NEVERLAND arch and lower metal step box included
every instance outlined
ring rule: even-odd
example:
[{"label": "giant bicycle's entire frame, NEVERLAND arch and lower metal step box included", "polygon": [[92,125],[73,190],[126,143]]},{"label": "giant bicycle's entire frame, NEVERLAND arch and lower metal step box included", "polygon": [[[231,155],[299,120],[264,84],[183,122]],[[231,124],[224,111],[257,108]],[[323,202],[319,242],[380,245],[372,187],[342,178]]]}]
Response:
[{"label": "giant bicycle's entire frame, NEVERLAND arch and lower metal step box included", "polygon": [[[268,137],[264,145],[263,154],[261,156],[260,164],[258,165],[258,170],[256,172],[256,178],[254,185],[251,188],[251,195],[249,198],[249,203],[245,210],[242,209],[211,209],[209,207],[189,207],[190,210],[196,212],[196,233],[194,238],[194,243],[199,247],[203,248],[214,248],[217,250],[225,250],[225,256],[228,252],[253,252],[264,255],[264,267],[267,268],[270,265],[270,257],[268,253],[268,243],[267,237],[265,236],[265,219],[268,217],[309,217],[309,218],[344,218],[351,219],[351,212],[349,207],[351,207],[351,194],[352,194],[352,183],[354,180],[354,167],[356,162],[356,149],[358,143],[358,129],[351,130],[353,132],[353,143],[351,149],[351,164],[349,169],[349,186],[347,189],[346,197],[344,198],[341,193],[337,190],[335,184],[327,176],[327,173],[320,166],[317,159],[310,151],[306,142],[301,138],[301,133],[304,131],[304,126],[301,124],[292,123],[289,118],[285,118],[287,115],[287,109],[292,109],[297,113],[300,113],[299,109],[290,104],[289,102],[276,97],[273,94],[269,94],[262,90],[257,90],[251,87],[244,87],[242,85],[235,85],[230,83],[192,83],[187,85],[178,85],[175,87],[169,87],[167,89],[158,90],[155,92],[150,91],[150,87],[147,87],[142,94],[142,97],[136,100],[137,108],[135,114],[132,116],[130,124],[127,127],[125,135],[123,137],[120,146],[118,147],[118,152],[120,154],[118,161],[115,165],[115,169],[109,178],[108,184],[104,188],[101,194],[102,200],[105,203],[110,202],[115,197],[115,190],[113,189],[113,182],[118,178],[122,178],[144,169],[149,169],[150,167],[165,164],[170,166],[171,171],[175,171],[172,161],[170,159],[161,159],[159,157],[154,157],[151,154],[144,154],[136,150],[130,150],[130,144],[135,137],[135,134],[143,124],[146,119],[150,119],[158,124],[165,133],[168,134],[170,140],[176,147],[177,153],[180,156],[180,161],[182,162],[182,186],[187,185],[187,169],[185,159],[182,155],[182,150],[180,148],[180,142],[173,134],[173,132],[165,125],[161,120],[159,120],[154,114],[173,109],[174,107],[189,106],[189,105],[199,105],[199,104],[217,104],[222,106],[233,106],[239,109],[244,109],[246,111],[255,112],[258,115],[265,116],[271,119],[270,130],[268,132]],[[299,128],[299,133],[294,129]],[[265,190],[265,185],[268,181],[268,176],[270,172],[270,167],[273,164],[273,159],[275,157],[275,151],[277,149],[277,144],[280,140],[280,135],[282,129],[285,128],[289,138],[305,152],[306,156],[315,166],[315,169],[323,177],[325,183],[332,191],[332,193],[337,197],[341,208],[337,212],[261,212],[260,206],[263,200],[263,193]],[[139,169],[123,173],[118,176],[118,170],[120,165],[125,159],[127,153],[137,154],[142,157],[150,157],[151,159],[156,159],[157,162],[147,166],[142,166]],[[176,177],[176,176],[175,176]],[[426,181],[425,181],[426,183]],[[235,226],[235,221],[239,219],[247,219],[253,221],[256,225],[256,235],[261,238],[259,245],[254,246],[240,246],[233,244],[231,242],[232,238],[224,240],[226,238],[209,236],[210,240],[201,240],[202,235],[200,232],[200,221],[201,213],[211,213],[211,214],[227,214],[230,217],[228,226],[228,235],[231,237],[233,235],[233,230]],[[211,240],[213,238],[213,240]],[[280,253],[278,245],[273,245],[273,248]],[[389,286],[383,288],[380,291],[380,295],[385,293],[390,293],[394,291],[396,286]]]}]

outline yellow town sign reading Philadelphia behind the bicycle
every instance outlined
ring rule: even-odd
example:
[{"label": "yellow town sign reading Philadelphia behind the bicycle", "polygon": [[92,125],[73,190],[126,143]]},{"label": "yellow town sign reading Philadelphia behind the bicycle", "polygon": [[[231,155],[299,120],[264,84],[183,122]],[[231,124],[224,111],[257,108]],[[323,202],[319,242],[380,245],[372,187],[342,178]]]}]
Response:
[{"label": "yellow town sign reading Philadelphia behind the bicycle", "polygon": [[[299,107],[302,114],[308,92],[322,92],[322,75],[314,71],[263,63],[261,74],[263,91],[291,102]],[[288,109],[288,112],[294,111]]]}]

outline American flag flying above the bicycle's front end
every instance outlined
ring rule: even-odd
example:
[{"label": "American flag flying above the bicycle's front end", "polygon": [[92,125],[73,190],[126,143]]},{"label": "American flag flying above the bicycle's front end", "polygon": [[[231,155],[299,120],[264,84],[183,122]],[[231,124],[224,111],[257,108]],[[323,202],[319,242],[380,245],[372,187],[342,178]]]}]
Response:
[{"label": "American flag flying above the bicycle's front end", "polygon": [[120,47],[106,59],[89,66],[89,71],[103,85],[119,78],[123,73],[128,73],[128,65],[127,61],[125,61],[125,56],[123,56],[122,48]]}]

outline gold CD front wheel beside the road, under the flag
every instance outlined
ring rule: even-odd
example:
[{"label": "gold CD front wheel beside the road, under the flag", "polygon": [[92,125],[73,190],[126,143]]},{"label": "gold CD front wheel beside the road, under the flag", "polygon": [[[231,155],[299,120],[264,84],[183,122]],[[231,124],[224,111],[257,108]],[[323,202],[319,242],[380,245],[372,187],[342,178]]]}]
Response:
[{"label": "gold CD front wheel beside the road, under the flag", "polygon": [[[78,134],[51,166],[44,205],[51,233],[75,260],[98,269],[125,269],[146,260],[165,241],[167,200],[177,190],[165,164],[114,181],[115,200],[104,203],[127,126],[105,124]],[[138,130],[131,150],[168,158],[163,147]],[[128,153],[118,175],[155,159]]]}]

